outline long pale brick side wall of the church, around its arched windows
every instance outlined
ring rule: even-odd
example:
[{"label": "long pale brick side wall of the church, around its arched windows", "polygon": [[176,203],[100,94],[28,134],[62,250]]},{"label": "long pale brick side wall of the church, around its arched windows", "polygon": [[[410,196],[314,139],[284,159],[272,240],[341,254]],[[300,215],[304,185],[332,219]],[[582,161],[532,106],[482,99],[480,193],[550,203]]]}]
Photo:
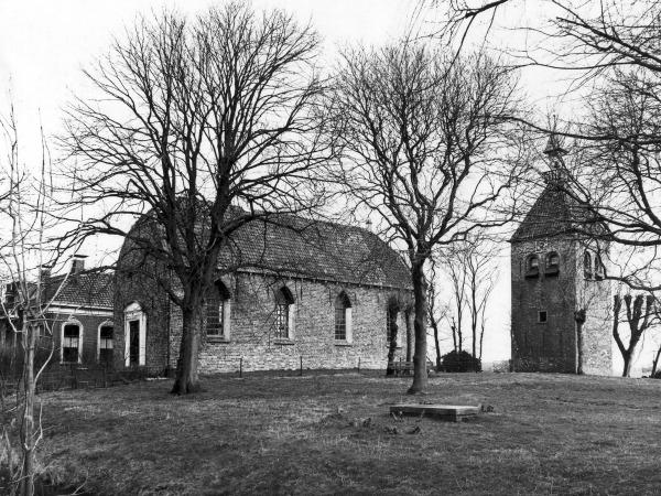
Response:
[{"label": "long pale brick side wall of the church, around its arched windows", "polygon": [[[395,290],[301,279],[278,279],[240,273],[232,278],[230,339],[203,338],[199,370],[237,371],[242,358],[243,370],[304,368],[386,368],[388,344],[386,315]],[[273,336],[274,293],[286,285],[295,299],[295,324],[291,339]],[[335,339],[334,302],[340,291],[351,301],[353,339]],[[173,360],[178,353],[181,311],[171,320]],[[397,358],[405,355],[405,323],[398,314],[400,346]],[[172,362],[174,366],[175,363]]]}]

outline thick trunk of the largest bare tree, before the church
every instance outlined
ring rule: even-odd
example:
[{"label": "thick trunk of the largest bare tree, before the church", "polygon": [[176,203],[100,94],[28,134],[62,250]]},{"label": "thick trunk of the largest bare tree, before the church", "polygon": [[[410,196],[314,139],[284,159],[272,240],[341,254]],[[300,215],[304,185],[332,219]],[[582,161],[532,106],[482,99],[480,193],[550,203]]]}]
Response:
[{"label": "thick trunk of the largest bare tree, before the church", "polygon": [[187,395],[199,391],[197,360],[199,353],[202,304],[184,305],[182,309],[183,328],[176,377],[172,393]]}]

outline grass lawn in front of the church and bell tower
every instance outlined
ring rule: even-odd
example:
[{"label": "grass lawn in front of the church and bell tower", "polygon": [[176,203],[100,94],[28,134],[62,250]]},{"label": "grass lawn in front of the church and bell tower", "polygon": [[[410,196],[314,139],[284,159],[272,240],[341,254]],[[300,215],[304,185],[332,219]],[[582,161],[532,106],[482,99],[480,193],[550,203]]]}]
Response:
[{"label": "grass lawn in front of the church and bell tower", "polygon": [[[451,423],[388,414],[410,379],[158,380],[42,395],[40,461],[90,494],[661,494],[661,380],[438,375]],[[419,429],[416,429],[419,428]]]}]

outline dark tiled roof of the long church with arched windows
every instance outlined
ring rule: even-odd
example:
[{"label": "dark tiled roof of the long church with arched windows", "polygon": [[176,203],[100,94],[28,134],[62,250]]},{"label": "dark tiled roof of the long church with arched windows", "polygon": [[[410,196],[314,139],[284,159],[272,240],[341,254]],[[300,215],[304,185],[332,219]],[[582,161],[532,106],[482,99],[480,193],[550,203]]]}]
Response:
[{"label": "dark tiled roof of the long church with arched windows", "polygon": [[223,250],[219,265],[370,285],[409,288],[402,258],[366,229],[273,215],[241,226]]}]

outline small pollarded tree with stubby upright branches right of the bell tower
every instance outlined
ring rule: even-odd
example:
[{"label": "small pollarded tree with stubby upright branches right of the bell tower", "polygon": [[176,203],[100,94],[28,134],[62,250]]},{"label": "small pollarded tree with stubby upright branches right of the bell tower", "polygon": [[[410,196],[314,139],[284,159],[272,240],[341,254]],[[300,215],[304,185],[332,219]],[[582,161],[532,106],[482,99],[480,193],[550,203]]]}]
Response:
[{"label": "small pollarded tree with stubby upright branches right of the bell tower", "polygon": [[[625,346],[619,331],[619,314],[622,300],[625,301],[627,323],[629,324],[629,343],[627,346]],[[621,298],[619,294],[616,294],[614,296],[613,314],[613,337],[625,360],[622,377],[629,377],[633,351],[640,342],[642,334],[653,324],[654,296],[651,294],[648,294],[647,296],[637,294],[636,298],[633,298],[631,294],[625,294],[625,296]]]}]

